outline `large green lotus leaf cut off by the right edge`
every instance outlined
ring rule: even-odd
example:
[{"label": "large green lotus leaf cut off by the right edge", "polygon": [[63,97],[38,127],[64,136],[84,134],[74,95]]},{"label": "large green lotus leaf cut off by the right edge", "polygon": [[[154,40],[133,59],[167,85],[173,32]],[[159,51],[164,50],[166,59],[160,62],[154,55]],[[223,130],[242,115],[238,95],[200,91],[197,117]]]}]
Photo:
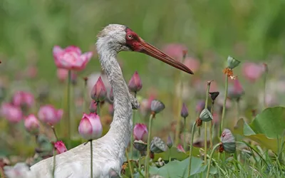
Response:
[{"label": "large green lotus leaf cut off by the right edge", "polygon": [[249,125],[257,134],[264,134],[266,137],[278,138],[285,130],[285,108],[266,108]]}]

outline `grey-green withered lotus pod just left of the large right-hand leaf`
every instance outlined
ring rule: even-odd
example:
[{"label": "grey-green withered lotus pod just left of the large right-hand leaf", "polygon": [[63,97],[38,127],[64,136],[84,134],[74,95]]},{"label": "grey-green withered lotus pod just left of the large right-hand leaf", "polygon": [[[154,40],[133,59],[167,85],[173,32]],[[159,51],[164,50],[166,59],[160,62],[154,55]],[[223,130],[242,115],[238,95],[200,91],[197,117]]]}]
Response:
[{"label": "grey-green withered lotus pod just left of the large right-hand leaf", "polygon": [[234,140],[234,135],[232,135],[232,132],[230,130],[224,129],[221,135],[221,142],[225,152],[236,152],[236,142]]}]

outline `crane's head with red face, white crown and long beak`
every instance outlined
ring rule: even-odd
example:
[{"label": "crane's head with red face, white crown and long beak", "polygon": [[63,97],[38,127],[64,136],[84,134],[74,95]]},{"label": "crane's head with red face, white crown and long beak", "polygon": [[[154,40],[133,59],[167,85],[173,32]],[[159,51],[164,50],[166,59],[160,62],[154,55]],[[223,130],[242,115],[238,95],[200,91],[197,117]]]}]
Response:
[{"label": "crane's head with red face, white crown and long beak", "polygon": [[[158,60],[169,64],[175,68],[193,74],[190,68],[187,68],[183,63],[175,60],[167,54],[160,51],[150,43],[145,42],[137,33],[132,31],[127,26],[110,24],[106,26],[103,31],[98,33],[97,43],[108,43],[108,48],[113,48],[115,51],[135,51],[145,53],[148,56],[157,58]],[[181,51],[182,53],[182,51]]]}]

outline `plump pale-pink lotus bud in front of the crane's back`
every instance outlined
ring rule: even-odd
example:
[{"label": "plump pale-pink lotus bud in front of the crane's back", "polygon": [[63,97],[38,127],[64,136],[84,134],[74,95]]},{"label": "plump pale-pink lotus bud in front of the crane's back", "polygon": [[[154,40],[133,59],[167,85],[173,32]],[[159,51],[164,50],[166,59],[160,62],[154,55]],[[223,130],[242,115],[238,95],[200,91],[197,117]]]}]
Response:
[{"label": "plump pale-pink lotus bud in front of the crane's back", "polygon": [[78,132],[86,140],[95,140],[102,135],[103,127],[100,122],[99,115],[83,113],[81,122],[79,123]]}]

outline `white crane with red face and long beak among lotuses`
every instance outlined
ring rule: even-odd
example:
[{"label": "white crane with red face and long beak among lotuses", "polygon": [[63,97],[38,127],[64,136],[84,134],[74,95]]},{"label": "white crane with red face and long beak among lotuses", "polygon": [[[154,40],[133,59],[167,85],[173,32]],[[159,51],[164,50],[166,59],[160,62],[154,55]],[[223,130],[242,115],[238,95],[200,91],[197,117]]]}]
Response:
[{"label": "white crane with red face and long beak among lotuses", "polygon": [[[113,177],[120,174],[125,148],[132,132],[132,104],[138,108],[138,101],[128,91],[122,71],[116,60],[120,51],[145,53],[186,73],[192,70],[182,63],[142,40],[127,26],[110,24],[98,33],[96,43],[102,68],[105,70],[114,94],[114,117],[110,130],[98,140],[93,140],[93,177]],[[34,164],[27,177],[52,177],[53,157]],[[68,152],[56,155],[56,178],[90,177],[90,143],[79,145]]]}]

